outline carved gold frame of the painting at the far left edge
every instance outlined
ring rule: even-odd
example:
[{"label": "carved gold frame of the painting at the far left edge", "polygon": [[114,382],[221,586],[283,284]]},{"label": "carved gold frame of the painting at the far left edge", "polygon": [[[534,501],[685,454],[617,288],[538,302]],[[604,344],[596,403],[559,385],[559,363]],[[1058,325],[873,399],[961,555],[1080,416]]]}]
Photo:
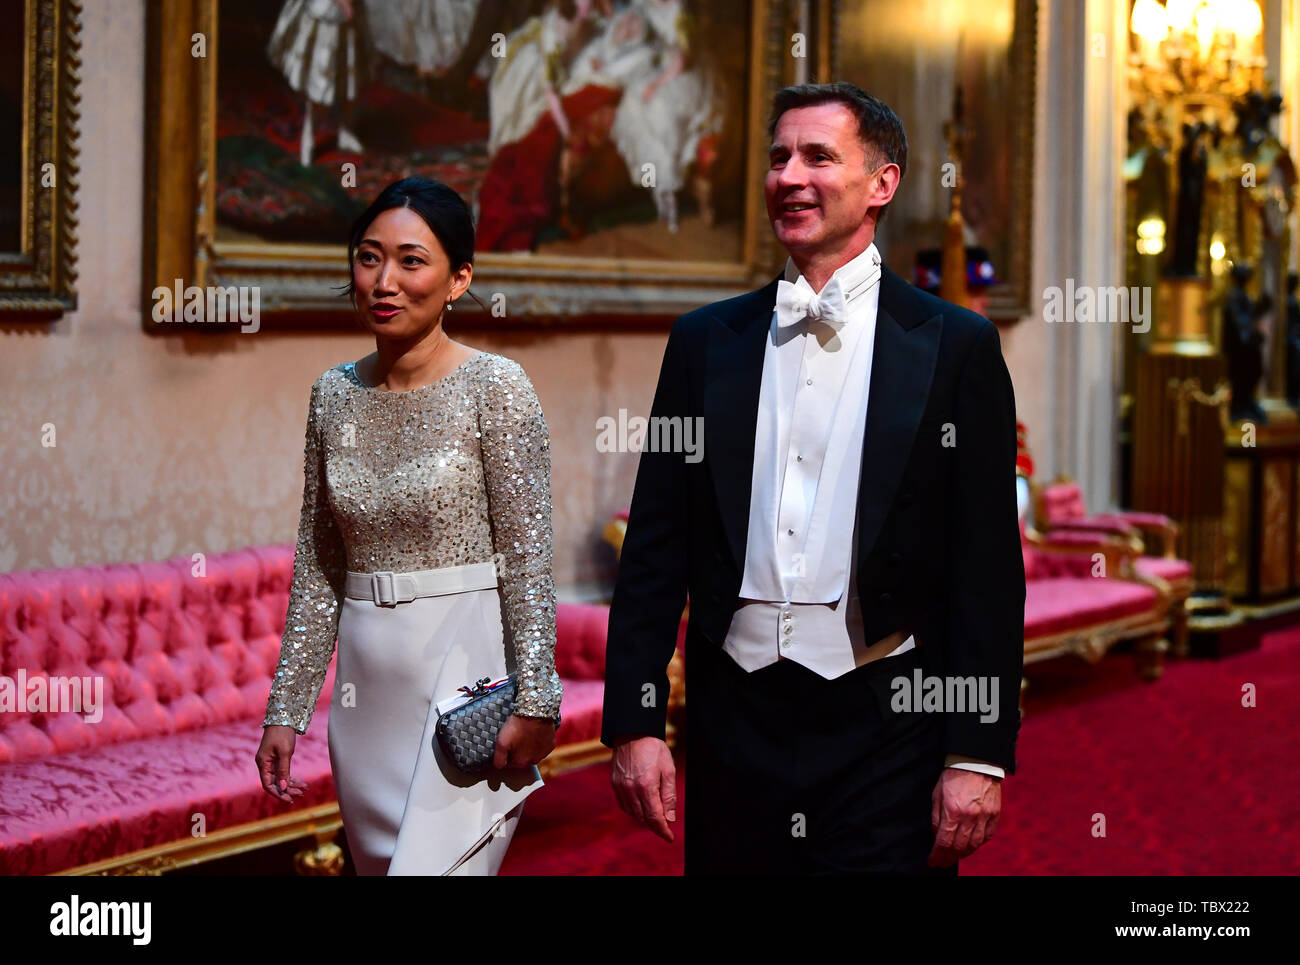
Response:
[{"label": "carved gold frame of the painting at the far left edge", "polygon": [[8,321],[77,307],[81,10],[78,0],[26,0],[23,9],[22,229],[20,251],[0,254]]}]

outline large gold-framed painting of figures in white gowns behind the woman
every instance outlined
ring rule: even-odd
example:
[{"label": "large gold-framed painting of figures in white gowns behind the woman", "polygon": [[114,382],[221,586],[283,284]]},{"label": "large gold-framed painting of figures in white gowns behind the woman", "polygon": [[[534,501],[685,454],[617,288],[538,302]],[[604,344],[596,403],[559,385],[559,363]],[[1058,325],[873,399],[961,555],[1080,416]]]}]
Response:
[{"label": "large gold-framed painting of figures in white gowns behind the woman", "polygon": [[748,291],[783,260],[762,177],[797,7],[153,0],[146,300],[247,286],[334,324],[348,228],[406,176],[469,203],[472,290],[510,319]]}]

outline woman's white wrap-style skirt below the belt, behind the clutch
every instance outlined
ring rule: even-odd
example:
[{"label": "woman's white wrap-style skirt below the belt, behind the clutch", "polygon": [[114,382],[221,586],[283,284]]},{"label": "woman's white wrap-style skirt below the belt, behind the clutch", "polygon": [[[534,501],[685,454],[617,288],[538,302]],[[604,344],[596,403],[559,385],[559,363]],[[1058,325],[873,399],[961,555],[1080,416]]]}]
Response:
[{"label": "woman's white wrap-style skirt below the belt, behind the clutch", "polygon": [[358,874],[500,867],[541,774],[536,766],[463,774],[434,736],[439,701],[480,678],[506,676],[500,613],[497,588],[390,606],[343,598],[328,734]]}]

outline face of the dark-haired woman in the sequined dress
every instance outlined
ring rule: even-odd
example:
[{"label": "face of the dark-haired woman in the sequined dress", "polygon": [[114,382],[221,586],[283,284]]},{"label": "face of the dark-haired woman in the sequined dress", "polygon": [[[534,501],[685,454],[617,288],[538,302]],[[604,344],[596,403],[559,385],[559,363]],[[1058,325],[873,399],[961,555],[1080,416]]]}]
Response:
[{"label": "face of the dark-haired woman in the sequined dress", "polygon": [[447,300],[469,287],[473,267],[452,272],[447,252],[424,218],[389,208],[356,246],[352,284],[365,326],[395,338],[417,336],[438,323]]}]

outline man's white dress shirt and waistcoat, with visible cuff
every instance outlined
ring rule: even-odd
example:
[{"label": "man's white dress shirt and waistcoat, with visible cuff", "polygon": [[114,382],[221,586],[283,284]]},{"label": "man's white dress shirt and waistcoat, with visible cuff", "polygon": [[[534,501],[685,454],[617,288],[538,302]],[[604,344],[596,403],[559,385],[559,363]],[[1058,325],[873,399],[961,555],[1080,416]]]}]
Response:
[{"label": "man's white dress shirt and waistcoat, with visible cuff", "polygon": [[[880,294],[876,246],[832,280],[844,293],[842,324],[801,319],[779,325],[772,311],[741,601],[723,641],[746,671],[790,659],[831,679],[868,655],[857,589],[857,507]],[[793,259],[785,281],[811,294]],[[842,525],[850,518],[852,533]],[[915,645],[909,636],[889,657]],[[946,765],[1005,775],[996,765],[954,754]]]}]

